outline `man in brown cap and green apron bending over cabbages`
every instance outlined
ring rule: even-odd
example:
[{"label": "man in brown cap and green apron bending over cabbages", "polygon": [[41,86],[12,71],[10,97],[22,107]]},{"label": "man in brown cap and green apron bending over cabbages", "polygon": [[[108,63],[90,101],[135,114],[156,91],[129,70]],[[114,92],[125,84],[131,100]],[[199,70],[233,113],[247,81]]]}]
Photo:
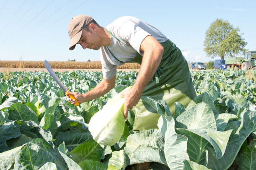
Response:
[{"label": "man in brown cap and green apron bending over cabbages", "polygon": [[[185,107],[196,97],[188,63],[180,49],[155,27],[134,17],[121,17],[108,26],[101,27],[92,17],[78,15],[68,25],[71,39],[69,49],[76,44],[83,49],[101,50],[103,80],[84,94],[68,92],[79,103],[96,99],[115,86],[116,66],[140,63],[140,71],[132,89],[121,93],[124,97],[124,117],[135,107],[133,130],[157,128],[160,115],[147,103],[139,102],[140,96],[165,100],[174,114],[174,102]],[[68,97],[68,96],[67,96]],[[71,104],[76,101],[68,97]]]}]

